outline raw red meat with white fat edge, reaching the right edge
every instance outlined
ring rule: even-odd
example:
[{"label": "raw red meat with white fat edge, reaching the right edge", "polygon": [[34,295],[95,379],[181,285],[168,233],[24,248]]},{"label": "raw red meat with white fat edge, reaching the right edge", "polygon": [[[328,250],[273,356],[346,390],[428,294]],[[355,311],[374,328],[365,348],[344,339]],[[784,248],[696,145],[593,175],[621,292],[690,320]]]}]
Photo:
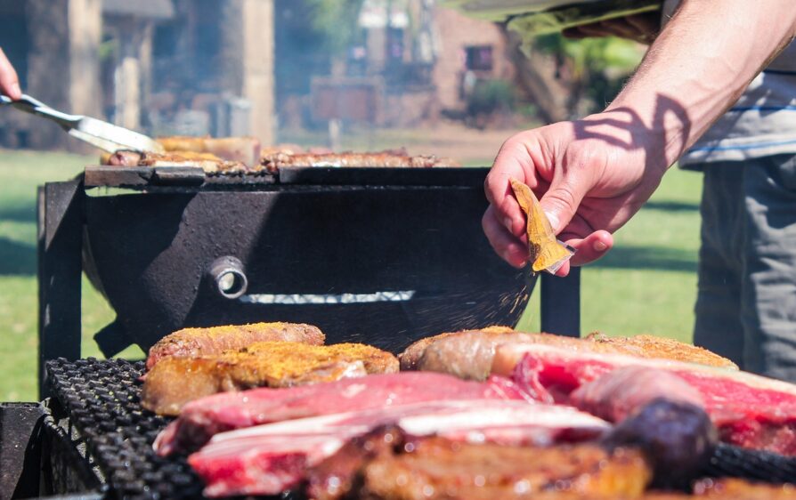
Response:
[{"label": "raw red meat with white fat edge, reaching the right edge", "polygon": [[791,383],[694,363],[529,343],[500,345],[492,373],[510,375],[533,398],[568,402],[582,385],[635,366],[668,371],[699,392],[721,440],[796,456],[796,385]]}]

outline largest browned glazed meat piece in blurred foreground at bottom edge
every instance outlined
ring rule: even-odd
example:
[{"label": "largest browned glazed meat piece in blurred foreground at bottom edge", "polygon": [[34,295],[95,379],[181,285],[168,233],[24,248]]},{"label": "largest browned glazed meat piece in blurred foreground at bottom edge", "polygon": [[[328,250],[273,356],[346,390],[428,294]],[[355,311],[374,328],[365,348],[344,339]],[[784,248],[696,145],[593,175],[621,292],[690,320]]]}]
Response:
[{"label": "largest browned glazed meat piece in blurred foreground at bottom edge", "polygon": [[650,479],[645,458],[630,449],[399,438],[400,431],[379,430],[342,448],[312,469],[309,493],[319,500],[614,499],[641,496]]}]

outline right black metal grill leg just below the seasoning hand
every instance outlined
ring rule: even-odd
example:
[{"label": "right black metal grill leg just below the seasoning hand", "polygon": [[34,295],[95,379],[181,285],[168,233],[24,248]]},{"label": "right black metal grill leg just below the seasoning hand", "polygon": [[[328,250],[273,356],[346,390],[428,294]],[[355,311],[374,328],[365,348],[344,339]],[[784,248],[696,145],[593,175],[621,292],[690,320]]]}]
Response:
[{"label": "right black metal grill leg just below the seasoning hand", "polygon": [[541,331],[581,336],[581,268],[566,278],[541,273]]}]

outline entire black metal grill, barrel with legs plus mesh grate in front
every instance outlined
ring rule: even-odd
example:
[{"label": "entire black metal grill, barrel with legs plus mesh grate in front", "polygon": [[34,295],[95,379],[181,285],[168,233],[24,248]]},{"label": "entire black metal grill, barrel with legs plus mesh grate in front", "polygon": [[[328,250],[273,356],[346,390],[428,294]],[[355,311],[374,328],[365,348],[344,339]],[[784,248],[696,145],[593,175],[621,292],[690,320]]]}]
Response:
[{"label": "entire black metal grill, barrel with legs plus mesh grate in front", "polygon": [[[181,327],[251,320],[314,323],[329,342],[393,351],[449,328],[516,324],[535,279],[508,268],[483,238],[486,173],[86,167],[74,181],[46,184],[38,211],[44,402],[0,405],[0,464],[15,464],[0,472],[0,491],[200,495],[184,457],[151,449],[167,420],[139,404],[142,363],[80,359],[83,271],[118,315],[95,336],[108,356],[131,343],[147,349]],[[222,286],[224,274],[237,289]],[[578,335],[577,274],[542,281],[543,325]]]}]

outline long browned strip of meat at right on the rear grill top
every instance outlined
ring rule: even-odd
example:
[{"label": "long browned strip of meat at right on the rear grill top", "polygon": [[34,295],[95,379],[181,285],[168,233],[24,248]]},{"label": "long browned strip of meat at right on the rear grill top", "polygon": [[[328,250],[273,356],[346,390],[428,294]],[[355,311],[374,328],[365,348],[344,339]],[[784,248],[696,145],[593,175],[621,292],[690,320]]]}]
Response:
[{"label": "long browned strip of meat at right on the rear grill top", "polygon": [[405,151],[384,151],[381,153],[296,153],[278,151],[264,155],[260,164],[268,172],[276,173],[286,166],[387,166],[417,167],[460,166],[451,158],[433,156],[409,156]]}]

